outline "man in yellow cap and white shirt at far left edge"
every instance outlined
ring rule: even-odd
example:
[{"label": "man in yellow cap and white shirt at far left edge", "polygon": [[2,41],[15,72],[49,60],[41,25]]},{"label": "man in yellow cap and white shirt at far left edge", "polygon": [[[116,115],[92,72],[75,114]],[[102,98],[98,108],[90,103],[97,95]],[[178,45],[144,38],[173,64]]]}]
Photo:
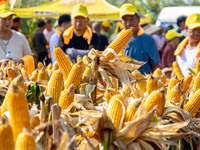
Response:
[{"label": "man in yellow cap and white shirt at far left edge", "polygon": [[0,64],[7,63],[8,58],[23,63],[23,56],[32,55],[25,36],[11,29],[13,16],[16,14],[7,4],[0,5]]}]

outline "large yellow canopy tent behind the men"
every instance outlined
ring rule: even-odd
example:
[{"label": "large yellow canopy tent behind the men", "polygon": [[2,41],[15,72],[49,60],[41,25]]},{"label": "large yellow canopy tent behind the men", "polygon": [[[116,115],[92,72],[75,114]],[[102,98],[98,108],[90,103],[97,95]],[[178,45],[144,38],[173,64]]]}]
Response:
[{"label": "large yellow canopy tent behind the men", "polygon": [[77,3],[87,6],[91,20],[119,20],[119,8],[105,0],[56,0],[36,7],[15,8],[13,11],[22,18],[58,18],[61,14],[70,14]]}]

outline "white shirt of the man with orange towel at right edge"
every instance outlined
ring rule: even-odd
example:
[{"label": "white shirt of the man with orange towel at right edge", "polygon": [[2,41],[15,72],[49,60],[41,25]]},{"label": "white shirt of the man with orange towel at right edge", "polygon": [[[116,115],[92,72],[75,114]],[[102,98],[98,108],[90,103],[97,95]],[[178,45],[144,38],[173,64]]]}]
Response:
[{"label": "white shirt of the man with orange towel at right edge", "polygon": [[187,74],[190,72],[188,68],[192,69],[194,66],[194,62],[197,59],[197,57],[195,57],[196,51],[197,51],[197,48],[192,49],[192,50],[188,50],[185,48],[183,52],[181,53],[181,55],[178,55],[176,57],[178,65],[184,77],[187,76]]}]

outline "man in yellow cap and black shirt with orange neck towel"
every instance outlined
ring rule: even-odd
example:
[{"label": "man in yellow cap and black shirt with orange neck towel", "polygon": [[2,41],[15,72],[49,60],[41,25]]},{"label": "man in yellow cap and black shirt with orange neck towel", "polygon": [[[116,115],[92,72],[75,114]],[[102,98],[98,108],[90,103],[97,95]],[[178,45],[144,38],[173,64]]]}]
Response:
[{"label": "man in yellow cap and black shirt with orange neck towel", "polygon": [[58,46],[73,60],[76,60],[78,55],[87,55],[91,48],[98,48],[98,36],[92,33],[88,22],[87,8],[81,4],[75,5],[71,13],[72,26],[65,30],[58,40]]}]

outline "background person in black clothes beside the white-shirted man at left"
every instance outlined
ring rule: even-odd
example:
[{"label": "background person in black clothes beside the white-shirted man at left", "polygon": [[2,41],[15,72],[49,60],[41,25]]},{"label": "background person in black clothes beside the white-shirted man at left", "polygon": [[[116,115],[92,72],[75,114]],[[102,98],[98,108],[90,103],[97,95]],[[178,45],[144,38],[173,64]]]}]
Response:
[{"label": "background person in black clothes beside the white-shirted man at left", "polygon": [[45,29],[45,22],[43,20],[39,21],[37,24],[37,31],[33,35],[33,48],[37,53],[38,61],[43,62],[45,59],[46,64],[48,64],[47,57],[48,52],[46,49],[47,41],[44,37],[43,31]]}]

